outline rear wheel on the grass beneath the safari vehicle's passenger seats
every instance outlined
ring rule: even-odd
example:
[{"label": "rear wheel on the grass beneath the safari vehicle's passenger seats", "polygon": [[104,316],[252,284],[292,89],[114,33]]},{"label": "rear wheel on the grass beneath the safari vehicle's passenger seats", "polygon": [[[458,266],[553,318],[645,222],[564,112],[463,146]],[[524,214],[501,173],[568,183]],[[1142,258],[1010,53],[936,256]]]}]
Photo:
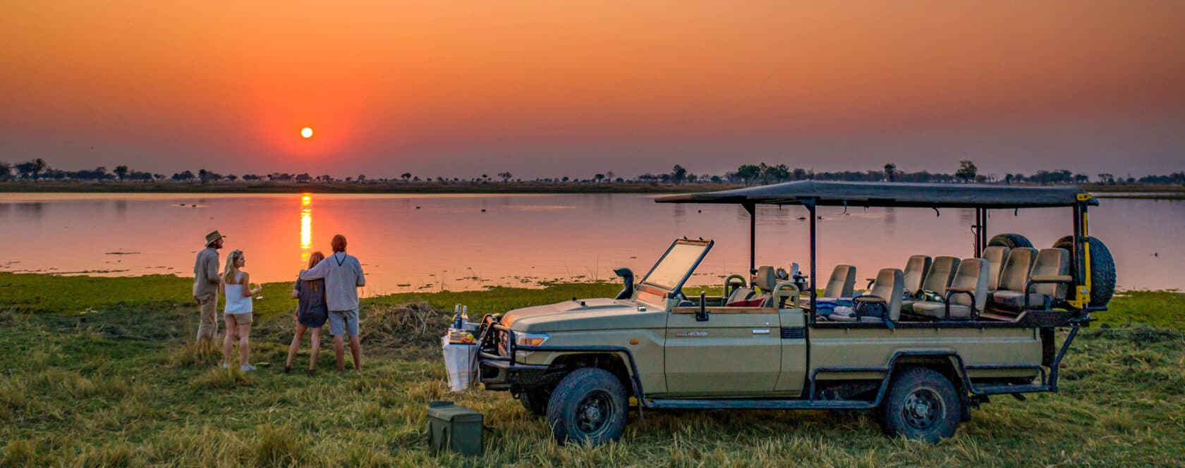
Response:
[{"label": "rear wheel on the grass beneath the safari vehicle's passenger seats", "polygon": [[954,384],[924,367],[910,367],[893,377],[880,404],[885,434],[929,443],[954,436],[962,413]]}]

